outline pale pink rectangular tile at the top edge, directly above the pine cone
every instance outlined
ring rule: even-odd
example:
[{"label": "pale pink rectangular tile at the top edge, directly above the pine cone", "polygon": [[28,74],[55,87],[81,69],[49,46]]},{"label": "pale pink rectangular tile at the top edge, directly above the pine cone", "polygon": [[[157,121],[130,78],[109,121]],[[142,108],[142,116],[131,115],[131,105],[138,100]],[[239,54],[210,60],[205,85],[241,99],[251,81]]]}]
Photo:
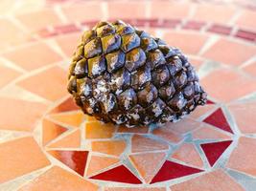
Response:
[{"label": "pale pink rectangular tile at the top edge, directly above the pine cone", "polygon": [[[108,17],[110,19],[124,19],[124,18],[145,18],[146,17],[146,1],[141,2],[122,2],[122,1],[109,1],[107,3]],[[129,11],[120,10],[132,10]]]}]

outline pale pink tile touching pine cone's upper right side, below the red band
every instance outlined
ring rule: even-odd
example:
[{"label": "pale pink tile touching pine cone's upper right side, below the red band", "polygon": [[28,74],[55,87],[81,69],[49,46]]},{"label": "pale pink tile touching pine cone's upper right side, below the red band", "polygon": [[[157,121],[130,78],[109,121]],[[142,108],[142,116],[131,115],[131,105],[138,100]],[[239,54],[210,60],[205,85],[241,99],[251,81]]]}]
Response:
[{"label": "pale pink tile touching pine cone's upper right side, below the red band", "polygon": [[197,54],[207,40],[204,34],[192,32],[166,32],[163,39],[183,53]]}]

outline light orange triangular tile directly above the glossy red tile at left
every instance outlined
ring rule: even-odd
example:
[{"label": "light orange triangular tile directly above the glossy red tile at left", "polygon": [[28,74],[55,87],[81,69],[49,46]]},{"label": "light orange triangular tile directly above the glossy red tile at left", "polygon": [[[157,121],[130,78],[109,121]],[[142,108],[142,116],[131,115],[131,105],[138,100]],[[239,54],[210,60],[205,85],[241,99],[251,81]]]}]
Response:
[{"label": "light orange triangular tile directly above the glossy red tile at left", "polygon": [[50,143],[48,148],[80,148],[81,146],[81,131],[76,129],[72,133],[64,136],[63,138]]}]

